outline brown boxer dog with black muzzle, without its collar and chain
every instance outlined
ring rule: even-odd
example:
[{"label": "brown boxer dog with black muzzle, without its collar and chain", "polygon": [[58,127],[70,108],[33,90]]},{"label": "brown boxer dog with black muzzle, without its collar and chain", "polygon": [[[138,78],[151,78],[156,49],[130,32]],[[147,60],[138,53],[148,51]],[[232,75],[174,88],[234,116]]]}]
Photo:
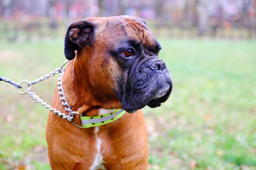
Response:
[{"label": "brown boxer dog with black muzzle, without its collar and chain", "polygon": [[[84,116],[124,113],[112,123],[78,128],[49,113],[46,128],[50,166],[57,169],[147,168],[146,125],[142,108],[155,108],[169,98],[172,80],[161,45],[134,16],[75,21],[65,35],[63,89],[73,111]],[[52,107],[65,108],[58,89]],[[74,123],[81,125],[79,115]]]}]

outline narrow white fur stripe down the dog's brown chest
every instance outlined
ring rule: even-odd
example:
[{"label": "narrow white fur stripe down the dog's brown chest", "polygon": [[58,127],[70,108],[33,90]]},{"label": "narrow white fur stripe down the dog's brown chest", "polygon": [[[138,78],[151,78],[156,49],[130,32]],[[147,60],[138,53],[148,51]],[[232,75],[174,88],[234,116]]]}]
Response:
[{"label": "narrow white fur stripe down the dog's brown chest", "polygon": [[95,128],[95,137],[96,137],[96,148],[97,148],[97,154],[95,156],[95,159],[93,161],[92,166],[90,166],[90,170],[97,170],[97,169],[102,169],[105,170],[105,166],[103,165],[105,162],[103,161],[102,154],[100,154],[100,149],[101,149],[101,140],[99,137],[97,137],[97,133],[99,132],[99,128]]}]

